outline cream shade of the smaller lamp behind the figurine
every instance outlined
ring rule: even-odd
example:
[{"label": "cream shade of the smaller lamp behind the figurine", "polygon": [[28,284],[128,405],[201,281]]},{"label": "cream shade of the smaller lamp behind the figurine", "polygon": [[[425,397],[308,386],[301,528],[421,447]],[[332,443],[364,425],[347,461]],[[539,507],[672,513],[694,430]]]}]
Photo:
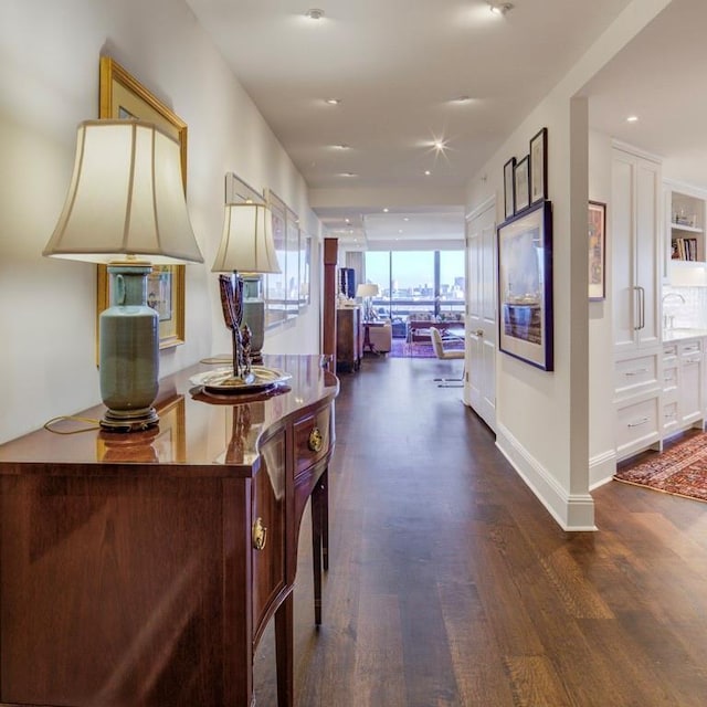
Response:
[{"label": "cream shade of the smaller lamp behind the figurine", "polygon": [[264,204],[225,204],[223,234],[212,273],[279,273],[273,217]]}]

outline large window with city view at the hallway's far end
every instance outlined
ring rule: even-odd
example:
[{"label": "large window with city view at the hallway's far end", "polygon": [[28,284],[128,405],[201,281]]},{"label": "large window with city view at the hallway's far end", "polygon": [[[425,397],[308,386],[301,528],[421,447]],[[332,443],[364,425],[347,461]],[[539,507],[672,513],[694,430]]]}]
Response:
[{"label": "large window with city view at the hallway's far end", "polygon": [[[464,312],[464,251],[367,251],[366,279],[379,287],[373,309],[404,336],[409,315]],[[398,326],[397,326],[398,325]]]}]

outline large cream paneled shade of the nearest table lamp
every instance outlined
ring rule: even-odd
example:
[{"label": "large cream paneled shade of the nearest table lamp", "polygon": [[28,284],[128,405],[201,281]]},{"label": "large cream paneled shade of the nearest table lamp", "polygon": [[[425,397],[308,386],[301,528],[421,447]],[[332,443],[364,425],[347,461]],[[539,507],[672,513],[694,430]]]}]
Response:
[{"label": "large cream paneled shade of the nearest table lamp", "polygon": [[109,263],[203,263],[181,179],[179,145],[151,123],[78,126],[64,210],[43,255]]}]

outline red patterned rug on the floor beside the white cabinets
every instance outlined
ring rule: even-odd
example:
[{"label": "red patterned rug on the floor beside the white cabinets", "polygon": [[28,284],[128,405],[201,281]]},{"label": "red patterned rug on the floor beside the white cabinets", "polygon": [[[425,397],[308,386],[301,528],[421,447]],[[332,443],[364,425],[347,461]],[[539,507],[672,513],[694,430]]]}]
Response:
[{"label": "red patterned rug on the floor beside the white cabinets", "polygon": [[614,478],[707,502],[707,434],[696,434],[636,466],[619,469]]}]

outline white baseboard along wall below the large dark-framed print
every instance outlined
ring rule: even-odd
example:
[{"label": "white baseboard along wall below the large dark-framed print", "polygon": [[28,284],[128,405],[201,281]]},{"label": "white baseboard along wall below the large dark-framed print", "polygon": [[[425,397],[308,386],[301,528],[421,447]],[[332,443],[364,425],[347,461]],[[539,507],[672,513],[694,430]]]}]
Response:
[{"label": "white baseboard along wall below the large dark-framed print", "polygon": [[496,446],[562,530],[597,530],[591,495],[568,494],[506,426],[500,423],[497,426]]}]

